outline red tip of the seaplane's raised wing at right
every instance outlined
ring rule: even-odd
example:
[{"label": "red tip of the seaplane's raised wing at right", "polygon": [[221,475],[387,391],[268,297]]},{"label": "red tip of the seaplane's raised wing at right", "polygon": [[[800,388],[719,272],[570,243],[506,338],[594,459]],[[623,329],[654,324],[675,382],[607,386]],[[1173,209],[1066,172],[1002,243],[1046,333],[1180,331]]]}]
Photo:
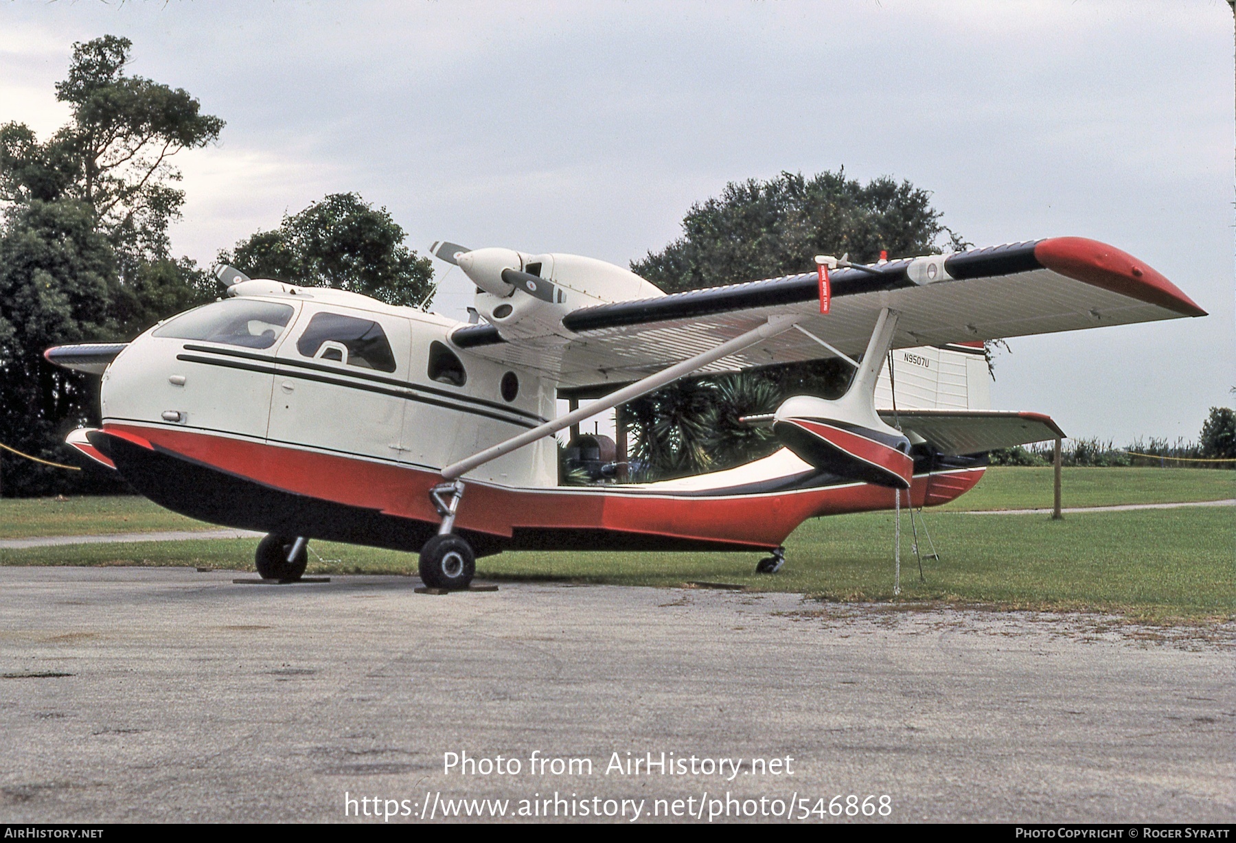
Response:
[{"label": "red tip of the seaplane's raised wing at right", "polygon": [[1044,267],[1114,293],[1157,304],[1185,316],[1206,311],[1180,288],[1132,255],[1085,237],[1051,237],[1035,246]]}]

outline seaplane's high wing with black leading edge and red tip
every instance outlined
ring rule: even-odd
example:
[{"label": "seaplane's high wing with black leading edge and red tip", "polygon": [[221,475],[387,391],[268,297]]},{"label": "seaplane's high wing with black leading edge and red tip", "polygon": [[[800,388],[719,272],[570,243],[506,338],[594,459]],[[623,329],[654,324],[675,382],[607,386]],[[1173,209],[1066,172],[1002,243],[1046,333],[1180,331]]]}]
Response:
[{"label": "seaplane's high wing with black leading edge and red tip", "polygon": [[641,378],[776,315],[801,321],[796,330],[702,371],[831,357],[838,351],[855,356],[884,308],[901,314],[892,347],[1206,315],[1146,263],[1082,237],[928,255],[870,269],[832,273],[828,315],[819,314],[816,273],[803,273],[583,307],[539,333],[470,325],[456,329],[451,341],[491,360],[538,370],[569,389]]}]

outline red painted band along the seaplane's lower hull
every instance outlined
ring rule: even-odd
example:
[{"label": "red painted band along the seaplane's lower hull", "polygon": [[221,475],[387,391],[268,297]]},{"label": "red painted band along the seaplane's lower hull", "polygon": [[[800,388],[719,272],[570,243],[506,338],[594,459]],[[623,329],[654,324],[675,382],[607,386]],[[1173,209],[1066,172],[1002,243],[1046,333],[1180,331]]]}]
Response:
[{"label": "red painted band along the seaplane's lower hull", "polygon": [[[188,429],[106,424],[104,433],[252,483],[386,515],[438,523],[424,468],[302,450]],[[933,506],[971,488],[984,468],[913,478],[911,503]],[[947,480],[946,480],[947,478]],[[905,494],[905,492],[902,492]],[[902,498],[905,503],[905,498]],[[671,494],[639,487],[510,488],[468,482],[456,527],[509,538],[515,530],[606,530],[748,546],[781,545],[807,518],[891,509],[894,492],[868,483],[744,494]]]}]

